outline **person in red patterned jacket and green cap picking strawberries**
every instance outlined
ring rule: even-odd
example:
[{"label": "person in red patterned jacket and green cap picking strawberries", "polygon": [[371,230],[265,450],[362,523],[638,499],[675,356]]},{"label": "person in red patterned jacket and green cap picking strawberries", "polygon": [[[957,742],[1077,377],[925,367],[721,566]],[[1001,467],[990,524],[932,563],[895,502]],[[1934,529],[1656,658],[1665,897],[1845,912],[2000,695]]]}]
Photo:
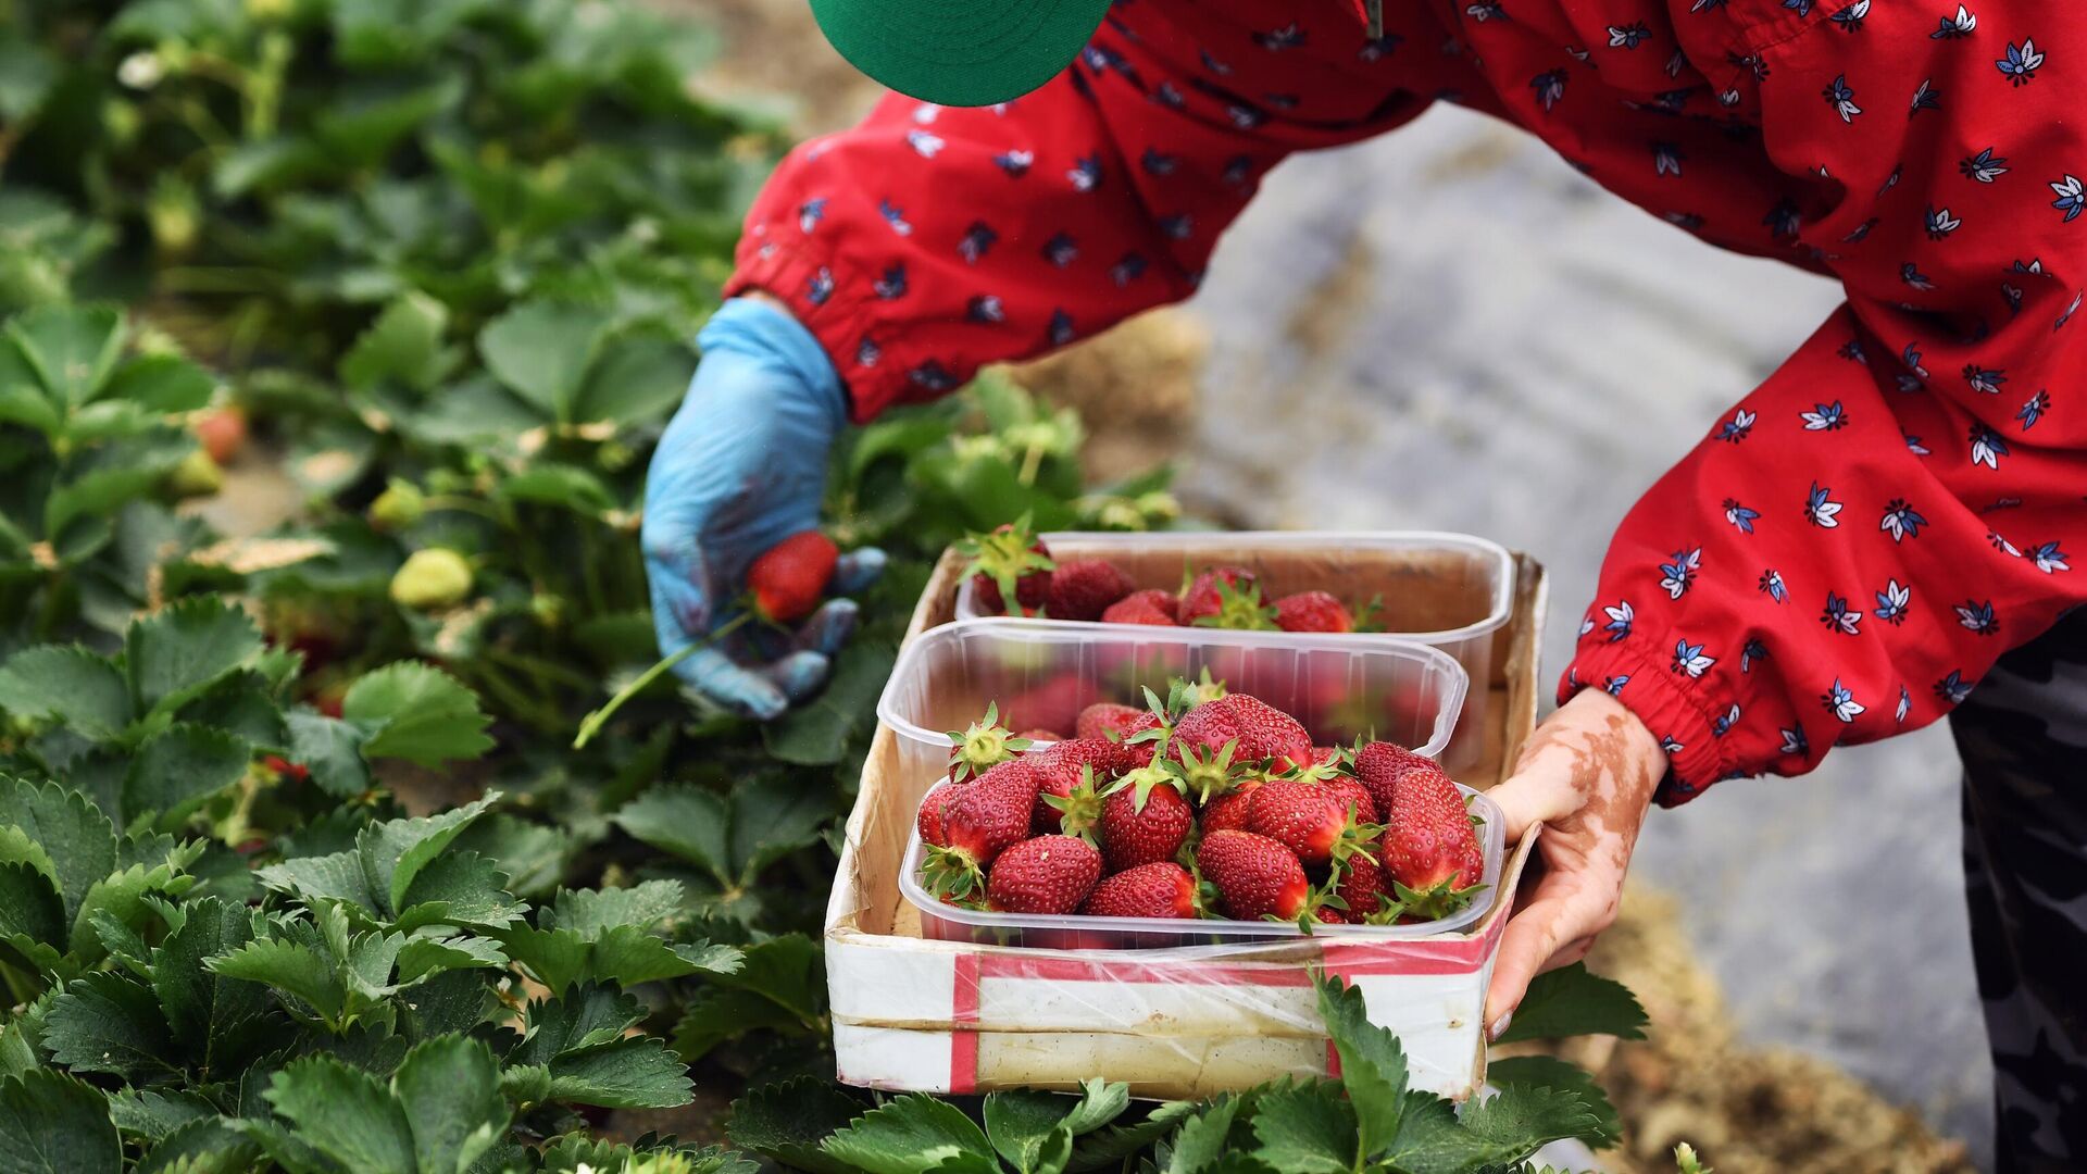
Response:
[{"label": "person in red patterned jacket and green cap picking strawberries", "polygon": [[[1494,792],[1549,873],[1488,1015],[1615,913],[1645,811],[1953,714],[2001,1170],[2087,1161],[2087,21],[1995,0],[814,0],[889,96],[753,207],[653,462],[662,641],[803,529],[847,418],[1196,288],[1292,150],[1450,98],[1847,303],[1632,510]],[[1106,19],[1104,19],[1106,17]],[[872,568],[856,566],[866,574]],[[2054,627],[2056,625],[2056,627]],[[689,660],[772,714],[816,685]],[[1976,687],[1976,694],[1974,694]]]}]

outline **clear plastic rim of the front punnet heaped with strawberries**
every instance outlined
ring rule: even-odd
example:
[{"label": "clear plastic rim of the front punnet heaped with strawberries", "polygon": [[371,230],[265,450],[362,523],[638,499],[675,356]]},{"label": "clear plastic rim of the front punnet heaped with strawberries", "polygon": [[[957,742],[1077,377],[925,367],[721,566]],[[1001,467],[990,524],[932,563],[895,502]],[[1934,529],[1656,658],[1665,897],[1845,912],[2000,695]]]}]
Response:
[{"label": "clear plastic rim of the front punnet heaped with strawberries", "polygon": [[[1471,894],[1471,905],[1436,921],[1415,921],[1413,925],[1313,925],[1313,938],[1334,940],[1411,940],[1455,934],[1476,925],[1492,909],[1494,892],[1501,886],[1501,861],[1507,850],[1507,831],[1501,821],[1501,806],[1459,783],[1471,800],[1471,815],[1482,821],[1478,846],[1486,854],[1486,879],[1482,890]],[[1302,938],[1304,932],[1292,921],[1227,921],[1204,917],[1179,921],[1173,917],[1083,917],[1077,913],[991,913],[985,909],[958,909],[935,900],[920,884],[920,829],[906,840],[906,861],[899,873],[899,892],[920,911],[920,936],[935,942],[985,942],[995,946],[1025,946],[1050,950],[1165,950],[1179,946],[1236,946],[1242,942],[1271,942],[1281,938]]]}]

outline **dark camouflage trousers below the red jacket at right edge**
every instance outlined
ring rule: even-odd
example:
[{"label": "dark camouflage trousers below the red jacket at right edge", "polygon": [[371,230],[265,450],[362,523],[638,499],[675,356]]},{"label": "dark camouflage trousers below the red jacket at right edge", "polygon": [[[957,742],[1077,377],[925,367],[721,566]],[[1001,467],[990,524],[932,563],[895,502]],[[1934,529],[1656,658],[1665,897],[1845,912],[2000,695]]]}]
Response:
[{"label": "dark camouflage trousers below the red jacket at right edge", "polygon": [[2087,608],[1999,658],[1949,719],[1993,1047],[1995,1170],[2087,1170]]}]

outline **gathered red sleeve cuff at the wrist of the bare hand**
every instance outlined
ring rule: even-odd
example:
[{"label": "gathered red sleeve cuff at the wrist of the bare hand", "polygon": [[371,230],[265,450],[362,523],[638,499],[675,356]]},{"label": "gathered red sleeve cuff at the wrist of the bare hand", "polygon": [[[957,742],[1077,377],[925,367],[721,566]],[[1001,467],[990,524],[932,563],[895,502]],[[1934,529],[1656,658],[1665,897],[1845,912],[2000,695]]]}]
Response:
[{"label": "gathered red sleeve cuff at the wrist of the bare hand", "polygon": [[1668,752],[1668,777],[1653,796],[1659,806],[1680,806],[1736,773],[1718,706],[1668,664],[1615,643],[1584,648],[1559,681],[1559,704],[1580,689],[1607,689],[1659,739]]}]

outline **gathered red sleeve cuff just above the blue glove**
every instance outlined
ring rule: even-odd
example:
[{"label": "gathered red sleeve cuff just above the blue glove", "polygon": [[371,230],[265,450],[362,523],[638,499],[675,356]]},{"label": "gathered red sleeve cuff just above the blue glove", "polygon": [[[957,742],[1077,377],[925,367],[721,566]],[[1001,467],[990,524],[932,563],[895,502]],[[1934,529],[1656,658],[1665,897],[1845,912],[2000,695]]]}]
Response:
[{"label": "gathered red sleeve cuff just above the blue glove", "polygon": [[[904,363],[891,355],[879,359],[879,345],[870,338],[872,307],[862,297],[839,292],[868,286],[837,269],[845,269],[845,265],[833,257],[814,257],[774,242],[758,242],[749,234],[739,244],[739,267],[724,284],[724,292],[739,297],[747,290],[762,290],[789,305],[797,324],[816,338],[826,357],[826,370],[835,372],[847,414],[856,424],[868,424],[904,393]],[[839,376],[843,370],[845,378]]]}]

